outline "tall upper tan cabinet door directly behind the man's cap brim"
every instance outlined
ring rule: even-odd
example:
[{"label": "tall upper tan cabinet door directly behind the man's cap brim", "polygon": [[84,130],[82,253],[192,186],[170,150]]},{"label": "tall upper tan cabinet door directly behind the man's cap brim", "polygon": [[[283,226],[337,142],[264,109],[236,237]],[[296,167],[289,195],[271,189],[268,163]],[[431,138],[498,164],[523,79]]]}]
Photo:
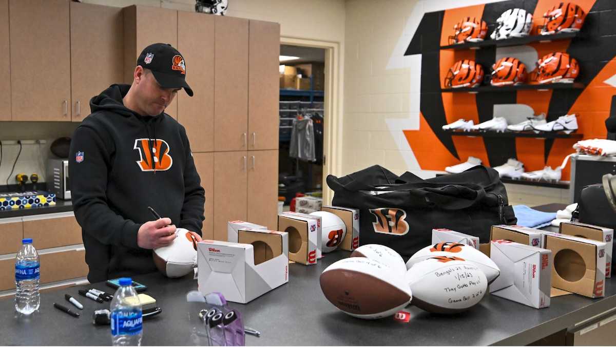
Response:
[{"label": "tall upper tan cabinet door directly behind the man's cap brim", "polygon": [[193,152],[214,150],[214,16],[178,12],[177,50],[184,55],[186,81],[195,93],[177,94],[179,121]]}]

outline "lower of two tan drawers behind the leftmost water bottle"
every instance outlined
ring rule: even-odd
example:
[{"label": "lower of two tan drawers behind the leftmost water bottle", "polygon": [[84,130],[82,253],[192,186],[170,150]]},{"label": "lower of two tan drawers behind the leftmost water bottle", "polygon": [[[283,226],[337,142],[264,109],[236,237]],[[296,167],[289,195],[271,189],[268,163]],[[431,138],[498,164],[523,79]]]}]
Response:
[{"label": "lower of two tan drawers behind the leftmost water bottle", "polygon": [[[83,247],[45,253],[41,259],[41,284],[87,276]],[[15,258],[0,260],[0,291],[15,289]]]}]

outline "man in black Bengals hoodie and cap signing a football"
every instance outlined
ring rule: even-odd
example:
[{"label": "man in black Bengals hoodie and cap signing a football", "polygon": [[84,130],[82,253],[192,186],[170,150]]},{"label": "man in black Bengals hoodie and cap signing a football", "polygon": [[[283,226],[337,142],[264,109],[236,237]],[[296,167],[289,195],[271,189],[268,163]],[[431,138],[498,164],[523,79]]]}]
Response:
[{"label": "man in black Bengals hoodie and cap signing a football", "polygon": [[[184,127],[164,113],[180,89],[193,96],[185,76],[171,45],[145,47],[132,84],[93,97],[73,134],[71,197],[91,283],[156,271],[152,249],[176,226],[201,240],[205,192]],[[148,206],[165,218],[153,221]]]}]

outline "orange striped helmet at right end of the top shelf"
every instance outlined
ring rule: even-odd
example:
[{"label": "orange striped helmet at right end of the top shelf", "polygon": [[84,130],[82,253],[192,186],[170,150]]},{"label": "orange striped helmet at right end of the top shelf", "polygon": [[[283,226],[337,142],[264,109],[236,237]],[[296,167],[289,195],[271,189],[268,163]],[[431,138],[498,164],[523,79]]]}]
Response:
[{"label": "orange striped helmet at right end of the top shelf", "polygon": [[538,27],[539,33],[552,35],[561,31],[563,33],[580,31],[585,18],[586,14],[582,7],[571,2],[561,2],[543,14],[543,25]]}]

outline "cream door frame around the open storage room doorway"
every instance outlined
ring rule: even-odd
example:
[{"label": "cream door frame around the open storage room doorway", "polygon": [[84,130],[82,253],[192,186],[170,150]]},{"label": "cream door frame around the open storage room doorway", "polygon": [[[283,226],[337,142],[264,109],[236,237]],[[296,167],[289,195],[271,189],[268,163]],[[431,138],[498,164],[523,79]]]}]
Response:
[{"label": "cream door frame around the open storage room doorway", "polygon": [[325,49],[325,90],[323,91],[323,205],[329,205],[333,191],[325,179],[328,174],[341,176],[342,169],[342,60],[341,44],[330,41],[280,36],[280,44]]}]

